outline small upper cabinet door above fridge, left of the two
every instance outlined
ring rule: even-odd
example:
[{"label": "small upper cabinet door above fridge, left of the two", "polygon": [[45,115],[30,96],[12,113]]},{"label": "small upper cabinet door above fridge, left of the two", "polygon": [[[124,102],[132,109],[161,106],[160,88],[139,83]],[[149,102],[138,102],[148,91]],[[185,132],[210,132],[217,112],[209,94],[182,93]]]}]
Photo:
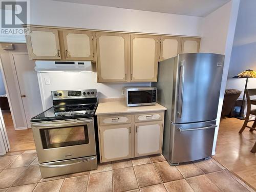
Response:
[{"label": "small upper cabinet door above fridge, left of the two", "polygon": [[181,37],[161,37],[161,53],[160,60],[177,56],[181,53]]}]

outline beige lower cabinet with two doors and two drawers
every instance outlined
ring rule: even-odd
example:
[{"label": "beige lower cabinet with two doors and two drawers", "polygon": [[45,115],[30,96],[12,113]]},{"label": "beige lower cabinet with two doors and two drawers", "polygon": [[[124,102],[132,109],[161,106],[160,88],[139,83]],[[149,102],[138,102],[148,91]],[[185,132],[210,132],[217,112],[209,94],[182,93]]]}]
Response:
[{"label": "beige lower cabinet with two doors and two drawers", "polygon": [[[158,118],[156,120],[138,118],[145,115],[150,117],[158,115]],[[115,120],[123,117],[127,117],[128,120],[103,123],[105,119]],[[162,153],[163,118],[163,111],[116,116],[98,115],[100,162]]]}]

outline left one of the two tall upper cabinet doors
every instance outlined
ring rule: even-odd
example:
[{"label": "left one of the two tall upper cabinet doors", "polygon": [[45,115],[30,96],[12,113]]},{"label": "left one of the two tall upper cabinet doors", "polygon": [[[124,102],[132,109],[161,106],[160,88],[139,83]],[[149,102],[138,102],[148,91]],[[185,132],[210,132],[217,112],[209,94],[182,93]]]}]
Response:
[{"label": "left one of the two tall upper cabinet doors", "polygon": [[126,82],[128,34],[96,33],[98,82]]}]

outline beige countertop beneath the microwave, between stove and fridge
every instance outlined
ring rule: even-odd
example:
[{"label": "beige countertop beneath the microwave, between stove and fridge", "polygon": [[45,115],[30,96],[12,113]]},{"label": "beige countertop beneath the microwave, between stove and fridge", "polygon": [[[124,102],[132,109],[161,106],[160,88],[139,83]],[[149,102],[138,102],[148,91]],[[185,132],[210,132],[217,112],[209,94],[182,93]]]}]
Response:
[{"label": "beige countertop beneath the microwave, between stove and fridge", "polygon": [[139,113],[167,110],[160,104],[148,106],[126,106],[124,101],[103,102],[98,104],[96,115]]}]

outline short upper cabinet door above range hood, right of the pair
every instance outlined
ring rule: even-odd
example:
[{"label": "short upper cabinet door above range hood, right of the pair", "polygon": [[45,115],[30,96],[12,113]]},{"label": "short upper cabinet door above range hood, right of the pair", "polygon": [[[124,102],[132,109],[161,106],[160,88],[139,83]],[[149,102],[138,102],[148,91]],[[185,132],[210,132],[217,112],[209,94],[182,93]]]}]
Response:
[{"label": "short upper cabinet door above range hood, right of the pair", "polygon": [[63,30],[63,42],[67,60],[94,60],[91,31]]}]

